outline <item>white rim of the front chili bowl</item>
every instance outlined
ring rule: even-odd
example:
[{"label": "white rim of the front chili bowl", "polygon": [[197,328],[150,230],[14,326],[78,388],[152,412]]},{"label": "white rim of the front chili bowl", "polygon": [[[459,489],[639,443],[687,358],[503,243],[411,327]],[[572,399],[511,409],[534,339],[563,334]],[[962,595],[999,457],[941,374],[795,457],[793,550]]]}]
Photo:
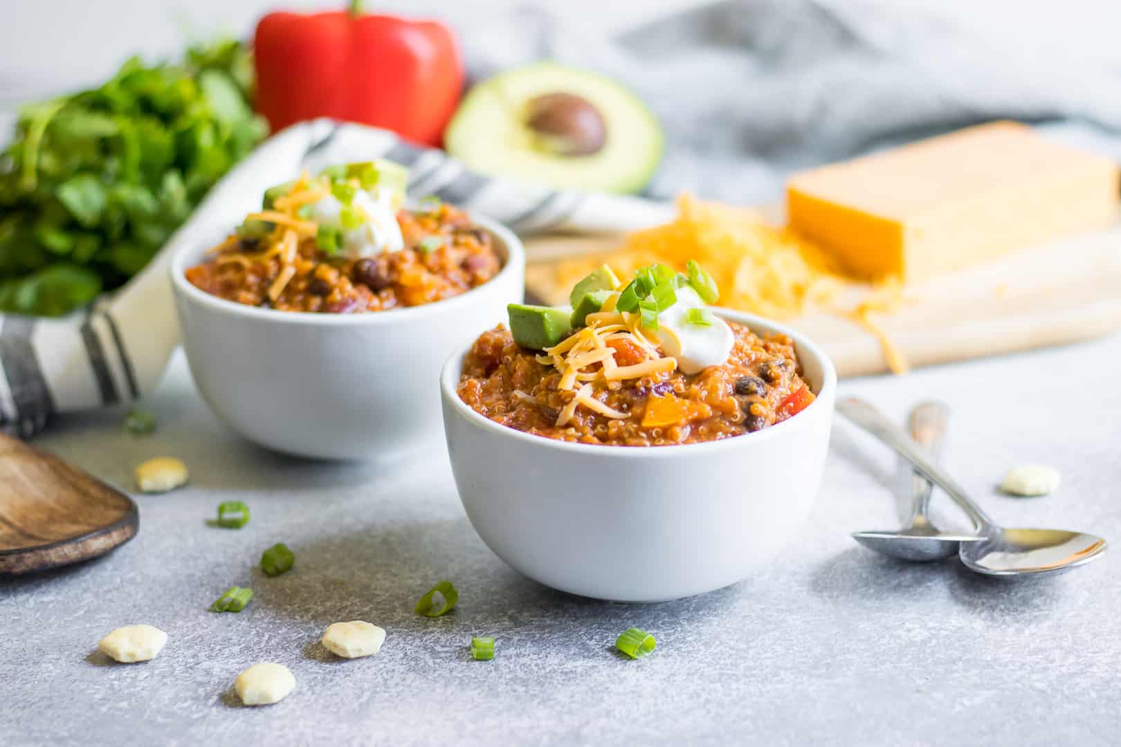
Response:
[{"label": "white rim of the front chili bowl", "polygon": [[[837,385],[837,374],[836,368],[833,366],[833,362],[825,354],[825,352],[818,347],[815,343],[810,342],[805,335],[795,332],[786,325],[781,325],[777,321],[772,321],[765,317],[747,314],[744,311],[736,311],[734,309],[714,308],[713,309],[717,316],[724,317],[731,321],[736,321],[739,324],[748,325],[749,327],[766,327],[772,333],[784,334],[790,337],[798,348],[799,355],[808,354],[808,357],[815,360],[822,367],[822,385],[819,391],[816,392],[816,398],[809,405],[798,413],[798,415],[808,412],[813,408],[825,407],[819,400],[832,399],[835,396],[836,385]],[[797,417],[787,418],[780,423],[775,423],[773,426],[768,426],[762,430],[756,431],[753,433],[743,433],[742,436],[733,436],[730,438],[722,438],[715,441],[700,441],[696,443],[670,443],[666,446],[609,446],[603,443],[577,443],[573,441],[562,441],[555,438],[548,438],[546,436],[536,436],[534,433],[527,433],[520,431],[516,428],[510,428],[509,426],[502,426],[497,423],[490,418],[485,418],[478,412],[475,412],[466,402],[460,399],[460,394],[456,391],[458,384],[458,368],[462,367],[463,357],[474,345],[474,340],[471,340],[465,347],[458,348],[453,353],[447,361],[444,363],[444,368],[439,374],[439,386],[443,396],[452,403],[455,411],[463,415],[467,421],[478,428],[483,428],[490,430],[497,435],[504,436],[506,438],[512,438],[516,440],[524,440],[529,443],[535,443],[543,449],[555,449],[560,451],[574,451],[583,454],[585,456],[594,457],[601,456],[604,458],[623,458],[623,459],[657,459],[658,455],[661,458],[670,456],[673,454],[682,454],[684,451],[700,452],[700,451],[720,451],[720,450],[731,450],[749,448],[752,443],[759,443],[762,440],[777,438],[786,433],[791,428],[797,428],[798,421]],[[452,371],[456,370],[455,381],[452,381]],[[793,424],[791,424],[793,423]]]}]

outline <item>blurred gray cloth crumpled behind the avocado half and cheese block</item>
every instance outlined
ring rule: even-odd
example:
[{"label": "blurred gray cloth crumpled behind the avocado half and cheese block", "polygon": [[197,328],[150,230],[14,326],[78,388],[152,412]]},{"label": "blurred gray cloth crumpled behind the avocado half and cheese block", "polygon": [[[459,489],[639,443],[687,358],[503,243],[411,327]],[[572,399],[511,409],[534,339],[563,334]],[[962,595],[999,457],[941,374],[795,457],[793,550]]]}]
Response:
[{"label": "blurred gray cloth crumpled behind the avocado half and cheese block", "polygon": [[464,46],[473,77],[544,57],[634,88],[666,129],[651,196],[761,204],[791,171],[1002,118],[1121,159],[1121,3],[1039,4],[733,0],[618,39],[527,7]]}]

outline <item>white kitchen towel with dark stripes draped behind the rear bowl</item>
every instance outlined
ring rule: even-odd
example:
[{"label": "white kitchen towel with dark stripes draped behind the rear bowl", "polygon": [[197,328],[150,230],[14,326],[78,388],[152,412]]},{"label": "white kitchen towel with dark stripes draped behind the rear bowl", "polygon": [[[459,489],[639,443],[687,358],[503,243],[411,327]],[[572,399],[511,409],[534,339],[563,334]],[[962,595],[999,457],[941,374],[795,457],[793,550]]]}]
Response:
[{"label": "white kitchen towel with dark stripes draped behind the rear bowl", "polygon": [[392,132],[315,120],[262,143],[228,174],[151,263],[85,314],[64,319],[0,315],[0,430],[27,438],[52,413],[135,400],[150,392],[178,345],[168,278],[185,244],[217,243],[259,208],[261,193],[331,164],[389,158],[409,167],[409,193],[491,216],[519,233],[645,227],[671,214],[665,203],[550,189],[473,174],[441,150]]}]

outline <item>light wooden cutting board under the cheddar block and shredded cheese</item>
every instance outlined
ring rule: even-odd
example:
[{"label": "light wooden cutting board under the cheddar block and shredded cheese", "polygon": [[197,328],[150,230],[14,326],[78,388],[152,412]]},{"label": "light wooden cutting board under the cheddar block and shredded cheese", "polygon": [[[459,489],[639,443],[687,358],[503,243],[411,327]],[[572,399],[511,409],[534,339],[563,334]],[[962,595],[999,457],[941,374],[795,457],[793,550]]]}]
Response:
[{"label": "light wooden cutting board under the cheddar block and shredded cheese", "polygon": [[[557,258],[620,243],[619,235],[528,241],[527,296],[566,304],[568,289],[554,280]],[[1121,328],[1121,225],[908,287],[905,296],[902,309],[877,320],[911,366],[1100,337]],[[842,376],[888,371],[879,342],[853,321],[815,314],[787,323],[819,343]]]}]

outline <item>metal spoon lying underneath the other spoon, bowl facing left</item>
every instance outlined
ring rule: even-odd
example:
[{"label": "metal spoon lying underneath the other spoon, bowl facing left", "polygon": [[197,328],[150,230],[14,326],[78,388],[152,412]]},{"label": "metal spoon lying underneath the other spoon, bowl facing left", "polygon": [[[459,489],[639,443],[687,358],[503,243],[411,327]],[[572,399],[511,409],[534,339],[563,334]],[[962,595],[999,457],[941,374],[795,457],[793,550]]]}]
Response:
[{"label": "metal spoon lying underneath the other spoon, bowl facing left", "polygon": [[[942,450],[949,410],[939,402],[923,402],[910,412],[908,423],[911,438],[935,458]],[[891,532],[853,532],[852,539],[865,548],[900,560],[942,560],[957,554],[962,542],[978,542],[981,536],[943,532],[927,519],[930,503],[930,482],[911,473],[911,515],[907,526]]]}]

